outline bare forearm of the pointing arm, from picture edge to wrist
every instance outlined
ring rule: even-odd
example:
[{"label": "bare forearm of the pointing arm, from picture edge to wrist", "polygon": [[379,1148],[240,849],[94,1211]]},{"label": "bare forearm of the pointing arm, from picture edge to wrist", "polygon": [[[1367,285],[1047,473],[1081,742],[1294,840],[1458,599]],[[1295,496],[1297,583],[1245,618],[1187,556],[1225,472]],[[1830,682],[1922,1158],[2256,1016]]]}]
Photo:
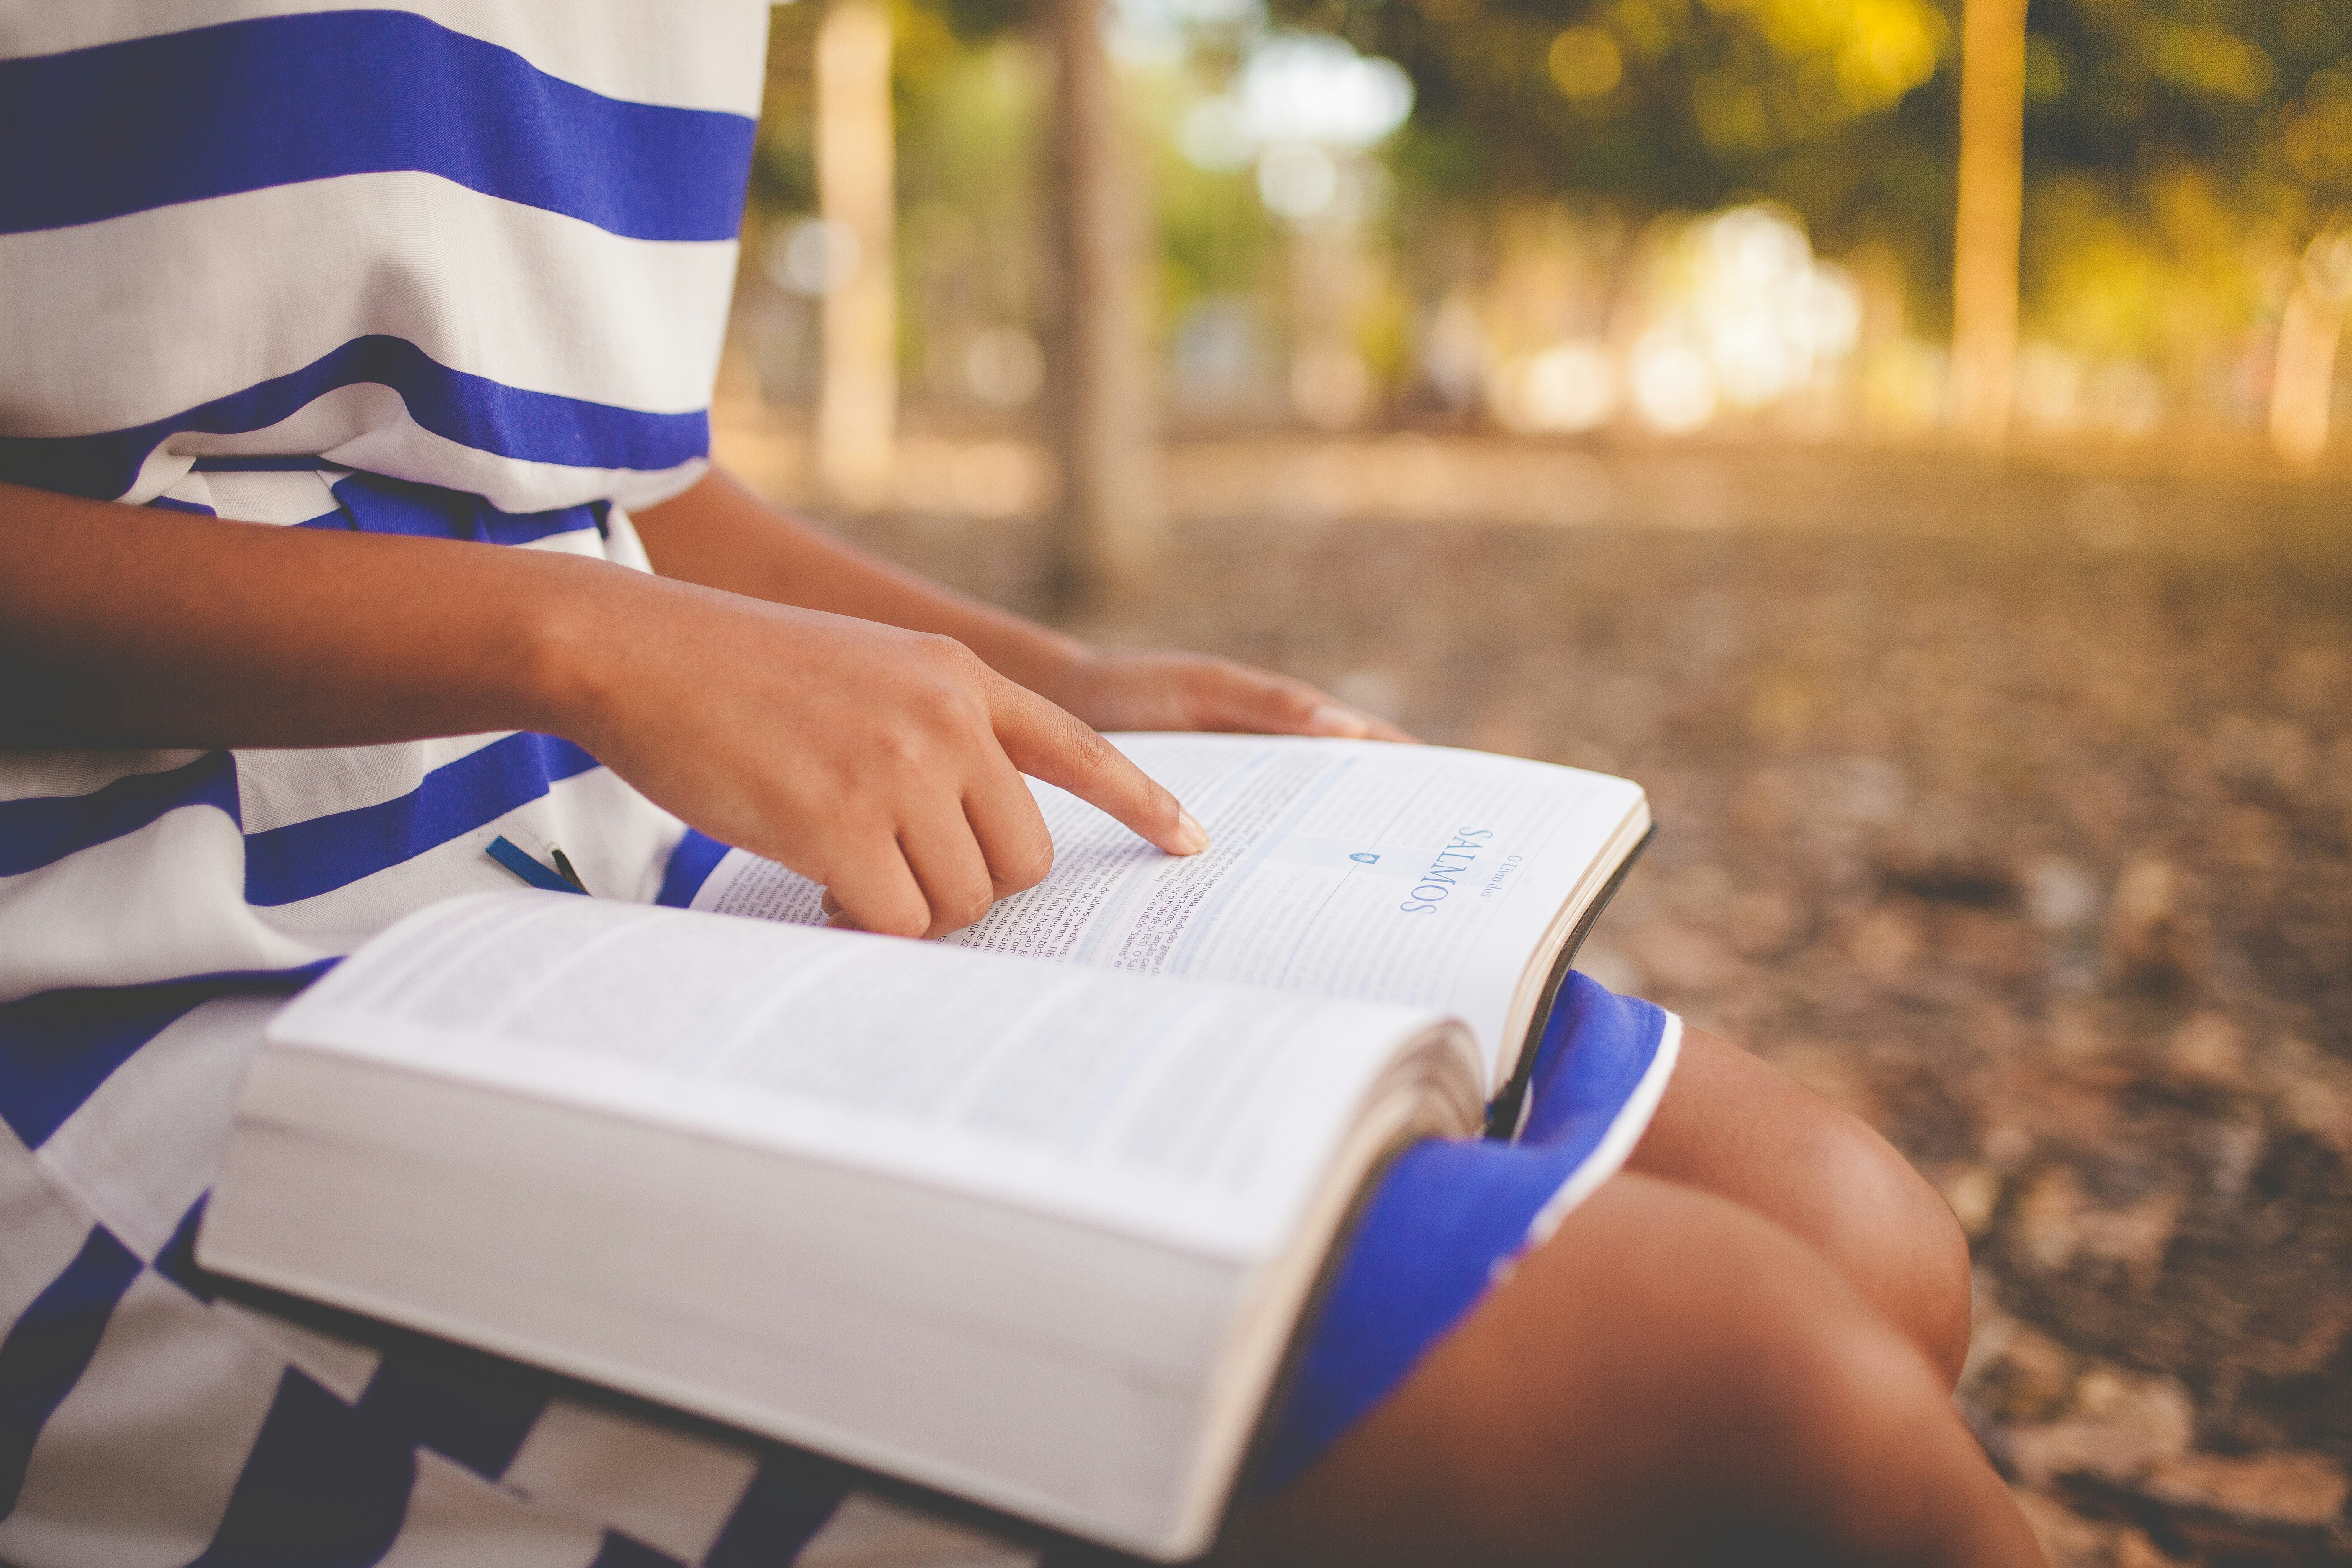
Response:
[{"label": "bare forearm of the pointing arm, from picture edge to wrist", "polygon": [[0,745],[567,733],[593,562],[0,484]]}]

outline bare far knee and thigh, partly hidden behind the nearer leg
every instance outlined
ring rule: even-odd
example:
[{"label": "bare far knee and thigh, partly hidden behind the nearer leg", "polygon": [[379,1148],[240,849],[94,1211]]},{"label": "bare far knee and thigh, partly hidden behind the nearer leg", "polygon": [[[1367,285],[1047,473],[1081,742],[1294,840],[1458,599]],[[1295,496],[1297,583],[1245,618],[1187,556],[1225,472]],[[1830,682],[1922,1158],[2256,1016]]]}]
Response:
[{"label": "bare far knee and thigh, partly hidden behind the nearer leg", "polygon": [[1969,1239],[1893,1145],[1738,1046],[1689,1030],[1630,1171],[1755,1208],[1820,1253],[1943,1373],[1969,1356]]}]

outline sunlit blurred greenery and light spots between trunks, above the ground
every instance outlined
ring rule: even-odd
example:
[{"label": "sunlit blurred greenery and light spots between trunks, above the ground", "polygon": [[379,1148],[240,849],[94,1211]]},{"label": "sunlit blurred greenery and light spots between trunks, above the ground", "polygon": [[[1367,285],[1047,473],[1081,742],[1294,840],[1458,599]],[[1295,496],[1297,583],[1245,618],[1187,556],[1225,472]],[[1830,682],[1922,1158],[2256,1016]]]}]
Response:
[{"label": "sunlit blurred greenery and light spots between trunks, above the ground", "polygon": [[[889,12],[873,256],[816,179],[821,21],[779,9],[729,390],[814,433],[823,299],[887,270],[910,447],[858,498],[1049,505],[1051,49],[978,0]],[[1931,0],[1117,0],[1155,423],[1936,444],[1959,31]],[[2347,54],[2321,0],[2034,9],[2006,444],[2340,468]],[[927,440],[981,435],[1016,447]]]}]

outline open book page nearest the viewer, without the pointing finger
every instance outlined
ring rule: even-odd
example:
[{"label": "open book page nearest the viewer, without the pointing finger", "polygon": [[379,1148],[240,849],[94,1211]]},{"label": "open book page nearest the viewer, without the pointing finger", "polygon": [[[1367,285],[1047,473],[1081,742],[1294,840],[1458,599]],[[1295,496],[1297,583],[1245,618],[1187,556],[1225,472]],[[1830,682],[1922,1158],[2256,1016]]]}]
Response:
[{"label": "open book page nearest the viewer, without the pointing finger", "polygon": [[[1249,1253],[1439,1020],[555,893],[409,917],[278,1044]],[[1454,1030],[1468,1067],[1470,1044]]]}]

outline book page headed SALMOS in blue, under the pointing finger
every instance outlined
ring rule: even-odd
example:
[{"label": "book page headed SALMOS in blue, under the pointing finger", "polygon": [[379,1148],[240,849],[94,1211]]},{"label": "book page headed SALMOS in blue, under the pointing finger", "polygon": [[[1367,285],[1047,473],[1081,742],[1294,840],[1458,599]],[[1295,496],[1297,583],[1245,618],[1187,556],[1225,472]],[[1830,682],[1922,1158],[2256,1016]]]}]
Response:
[{"label": "book page headed SALMOS in blue, under the pointing finger", "polygon": [[[1529,954],[1642,802],[1604,773],[1374,741],[1110,736],[1209,827],[1167,856],[1030,780],[1054,872],[946,940],[1145,976],[1458,1013],[1491,1060]],[[694,900],[816,919],[804,877],[731,853]]]}]

